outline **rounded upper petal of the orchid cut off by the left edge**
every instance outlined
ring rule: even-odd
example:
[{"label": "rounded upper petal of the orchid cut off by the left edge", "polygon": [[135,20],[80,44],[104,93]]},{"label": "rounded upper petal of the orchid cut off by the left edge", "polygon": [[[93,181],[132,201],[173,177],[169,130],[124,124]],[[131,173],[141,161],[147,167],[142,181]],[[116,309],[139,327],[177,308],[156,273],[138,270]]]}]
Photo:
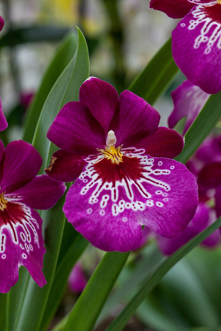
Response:
[{"label": "rounded upper petal of the orchid cut off by the left edge", "polygon": [[1,192],[10,193],[37,175],[42,164],[35,147],[23,140],[9,143],[0,164]]}]

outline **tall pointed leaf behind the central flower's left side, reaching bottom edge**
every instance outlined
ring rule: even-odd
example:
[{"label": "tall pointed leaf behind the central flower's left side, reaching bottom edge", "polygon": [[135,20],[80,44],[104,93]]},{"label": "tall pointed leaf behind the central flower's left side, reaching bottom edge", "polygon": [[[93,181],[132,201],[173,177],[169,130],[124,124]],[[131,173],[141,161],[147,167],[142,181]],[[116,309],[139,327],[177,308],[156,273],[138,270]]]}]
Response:
[{"label": "tall pointed leaf behind the central flower's left side, reaching bottom edge", "polygon": [[[78,101],[79,88],[84,80],[87,79],[88,75],[89,57],[87,44],[82,32],[78,29],[78,44],[75,55],[52,87],[37,122],[33,145],[37,148],[43,159],[40,173],[43,173],[50,159],[49,151],[51,149],[51,143],[46,138],[47,130],[64,104],[69,101]],[[37,331],[40,328],[52,286],[62,240],[65,223],[65,217],[62,212],[64,201],[65,196],[51,210],[40,213],[43,219],[43,228],[46,228],[46,253],[44,255],[43,273],[47,284],[41,289],[31,277],[29,278],[19,320],[15,326],[16,331]]]}]

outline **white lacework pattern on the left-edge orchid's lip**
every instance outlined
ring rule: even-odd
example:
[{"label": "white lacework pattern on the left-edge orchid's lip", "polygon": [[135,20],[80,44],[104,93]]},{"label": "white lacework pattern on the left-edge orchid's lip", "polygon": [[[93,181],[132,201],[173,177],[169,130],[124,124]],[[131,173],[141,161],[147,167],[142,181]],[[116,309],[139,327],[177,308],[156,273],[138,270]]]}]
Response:
[{"label": "white lacework pattern on the left-edge orchid's lip", "polygon": [[[7,201],[15,201],[17,199],[19,200],[18,196],[16,196],[15,198],[11,196],[11,199],[7,197]],[[22,219],[22,221],[3,224],[0,227],[0,257],[2,259],[6,259],[6,254],[3,253],[5,252],[7,241],[9,241],[8,244],[10,244],[12,240],[14,244],[20,246],[20,248],[22,249],[21,257],[23,259],[27,259],[27,254],[30,254],[30,251],[33,251],[33,235],[34,243],[37,245],[38,248],[40,248],[39,238],[36,230],[36,228],[39,229],[39,224],[37,223],[36,219],[33,218],[31,209],[28,206],[22,203],[19,203],[19,205],[22,207],[25,213],[25,217]],[[3,231],[4,229],[7,229],[8,231]],[[23,231],[21,229],[23,229]],[[33,235],[31,235],[30,230]],[[9,232],[11,234],[11,238],[8,238]],[[24,253],[24,251],[27,254]]]}]

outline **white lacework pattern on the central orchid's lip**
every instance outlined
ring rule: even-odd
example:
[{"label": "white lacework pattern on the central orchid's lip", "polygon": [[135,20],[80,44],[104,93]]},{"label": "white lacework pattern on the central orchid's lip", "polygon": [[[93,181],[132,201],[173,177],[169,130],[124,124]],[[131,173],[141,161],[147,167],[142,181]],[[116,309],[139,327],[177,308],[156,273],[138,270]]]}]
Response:
[{"label": "white lacework pattern on the central orchid's lip", "polygon": [[[115,186],[113,186],[112,182],[104,182],[103,179],[99,177],[99,174],[95,171],[94,168],[94,164],[98,161],[101,161],[104,157],[101,154],[90,155],[85,159],[88,164],[85,166],[84,171],[79,176],[79,179],[86,184],[81,189],[81,195],[86,195],[91,188],[94,188],[88,198],[88,203],[91,205],[91,207],[87,209],[88,214],[93,213],[93,205],[97,203],[100,204],[100,215],[104,216],[105,208],[107,207],[108,202],[110,203],[111,201],[112,215],[117,216],[119,213],[123,213],[126,209],[131,209],[133,211],[143,211],[146,208],[153,206],[162,208],[164,203],[169,201],[167,192],[171,190],[170,185],[152,177],[151,175],[169,175],[175,166],[171,166],[170,169],[152,169],[154,165],[154,159],[145,155],[144,149],[136,149],[135,147],[122,148],[121,153],[124,156],[136,157],[139,159],[140,165],[143,166],[142,178],[139,178],[135,181],[125,176],[125,178],[122,178],[122,180],[116,180]],[[159,161],[158,166],[163,166],[163,162]],[[164,203],[151,199],[152,195],[143,186],[143,184],[147,183],[156,186],[155,194],[159,196],[159,199],[157,200],[160,200],[161,198]],[[138,190],[141,196],[140,200],[142,201],[138,201],[134,197],[133,187]],[[125,199],[119,200],[119,189],[122,190],[122,188],[125,192]],[[122,217],[122,221],[127,221],[127,217]]]}]

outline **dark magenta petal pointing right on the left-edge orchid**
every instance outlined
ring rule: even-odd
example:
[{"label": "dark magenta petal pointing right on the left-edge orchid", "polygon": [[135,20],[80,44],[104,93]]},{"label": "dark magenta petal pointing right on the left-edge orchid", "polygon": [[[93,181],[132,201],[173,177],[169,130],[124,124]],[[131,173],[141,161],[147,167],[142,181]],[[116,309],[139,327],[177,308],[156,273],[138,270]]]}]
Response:
[{"label": "dark magenta petal pointing right on the left-edge orchid", "polygon": [[8,201],[19,201],[33,209],[49,209],[62,197],[66,190],[63,182],[38,175],[18,190],[5,194]]}]

